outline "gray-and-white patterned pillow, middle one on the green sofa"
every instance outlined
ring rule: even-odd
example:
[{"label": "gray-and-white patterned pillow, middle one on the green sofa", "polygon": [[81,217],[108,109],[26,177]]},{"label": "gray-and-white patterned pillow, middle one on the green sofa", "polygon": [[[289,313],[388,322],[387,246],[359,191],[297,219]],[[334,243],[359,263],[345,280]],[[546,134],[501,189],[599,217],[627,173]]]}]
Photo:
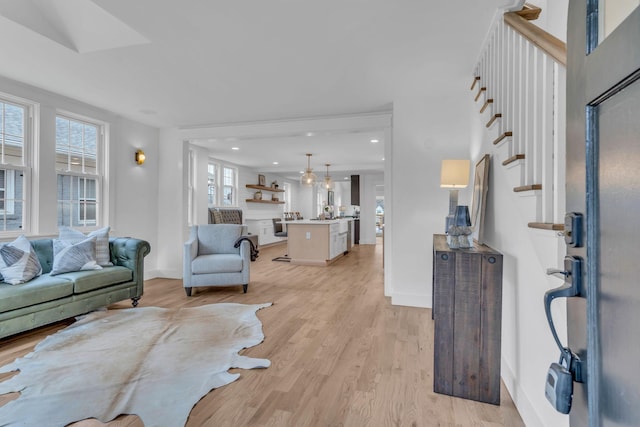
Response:
[{"label": "gray-and-white patterned pillow, middle one on the green sofa", "polygon": [[96,262],[96,236],[79,243],[53,240],[53,267],[50,275],[100,269],[102,267]]}]

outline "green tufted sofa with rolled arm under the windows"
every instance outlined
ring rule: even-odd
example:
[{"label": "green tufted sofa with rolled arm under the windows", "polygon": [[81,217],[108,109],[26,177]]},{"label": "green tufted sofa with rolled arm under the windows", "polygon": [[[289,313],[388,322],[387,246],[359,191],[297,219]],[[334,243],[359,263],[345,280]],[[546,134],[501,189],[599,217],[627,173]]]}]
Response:
[{"label": "green tufted sofa with rolled arm under the windows", "polygon": [[0,338],[88,313],[131,299],[138,305],[144,280],[148,242],[130,237],[109,238],[113,267],[50,276],[53,240],[32,240],[42,275],[20,285],[0,283]]}]

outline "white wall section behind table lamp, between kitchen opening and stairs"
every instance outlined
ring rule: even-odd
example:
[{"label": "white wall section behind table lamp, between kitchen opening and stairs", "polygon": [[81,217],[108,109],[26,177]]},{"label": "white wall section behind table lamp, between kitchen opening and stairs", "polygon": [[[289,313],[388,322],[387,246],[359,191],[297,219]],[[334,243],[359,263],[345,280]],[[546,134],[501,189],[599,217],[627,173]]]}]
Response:
[{"label": "white wall section behind table lamp, between kitchen opening and stairs", "polygon": [[447,86],[440,97],[394,102],[387,156],[392,176],[384,183],[386,211],[392,213],[385,219],[385,254],[392,260],[385,285],[393,304],[431,307],[433,235],[444,233],[449,210],[449,193],[440,188],[440,163],[469,156],[469,81],[471,74],[457,87]]}]

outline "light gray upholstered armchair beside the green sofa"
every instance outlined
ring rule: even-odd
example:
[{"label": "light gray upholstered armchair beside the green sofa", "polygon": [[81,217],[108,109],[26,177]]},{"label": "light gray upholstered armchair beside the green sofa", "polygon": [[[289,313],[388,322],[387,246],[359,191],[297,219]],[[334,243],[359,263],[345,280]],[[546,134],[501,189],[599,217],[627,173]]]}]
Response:
[{"label": "light gray upholstered armchair beside the green sofa", "polygon": [[249,287],[251,264],[250,243],[243,240],[246,226],[237,224],[204,224],[191,227],[184,244],[184,274],[182,282],[187,296],[198,286],[242,285]]}]

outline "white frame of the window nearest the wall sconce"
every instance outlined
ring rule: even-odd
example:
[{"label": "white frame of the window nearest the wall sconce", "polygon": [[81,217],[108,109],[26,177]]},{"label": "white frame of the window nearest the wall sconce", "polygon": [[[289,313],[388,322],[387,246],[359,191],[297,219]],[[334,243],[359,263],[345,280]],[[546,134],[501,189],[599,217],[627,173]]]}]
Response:
[{"label": "white frame of the window nearest the wall sconce", "polygon": [[[76,218],[75,218],[76,225],[73,224],[73,218],[70,220],[70,225],[74,227],[83,228],[83,229],[100,228],[104,224],[108,223],[108,212],[109,212],[108,198],[105,196],[106,194],[108,194],[106,187],[108,182],[107,158],[108,158],[108,146],[109,146],[109,124],[91,117],[86,117],[80,114],[72,113],[69,111],[61,111],[61,110],[58,110],[56,112],[56,120],[58,118],[69,120],[70,122],[77,122],[81,124],[95,126],[97,128],[96,172],[95,173],[84,172],[84,155],[82,159],[83,161],[81,162],[83,171],[71,171],[68,167],[66,169],[62,169],[58,167],[57,163],[55,167],[56,167],[56,181],[59,176],[71,176],[71,177],[78,177],[80,179],[85,179],[85,180],[91,179],[96,181],[95,199],[86,198],[86,197],[80,199],[79,197],[80,189],[79,188],[72,189],[72,191],[75,191],[76,194],[78,195],[78,207],[77,209],[71,209],[72,215],[76,215]],[[56,128],[56,131],[57,131],[57,128]],[[57,155],[58,155],[58,152],[57,152],[57,144],[56,144],[54,162],[56,162]],[[80,206],[82,206],[83,202],[86,203],[87,201],[94,201],[94,200],[96,203],[95,221],[82,219],[82,217],[80,216]],[[56,210],[59,203],[60,203],[60,200],[56,196]]]}]

